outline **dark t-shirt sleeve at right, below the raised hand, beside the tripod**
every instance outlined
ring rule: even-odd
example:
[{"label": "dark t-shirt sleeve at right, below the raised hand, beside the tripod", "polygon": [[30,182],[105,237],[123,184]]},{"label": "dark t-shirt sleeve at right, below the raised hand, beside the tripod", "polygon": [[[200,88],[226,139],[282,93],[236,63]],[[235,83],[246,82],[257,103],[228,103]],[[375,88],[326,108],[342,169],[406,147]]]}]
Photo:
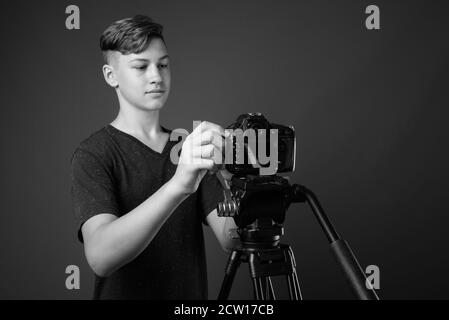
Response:
[{"label": "dark t-shirt sleeve at right, below the raised hand, beside the tripod", "polygon": [[219,202],[224,200],[223,186],[215,174],[206,173],[198,190],[201,220],[203,224],[207,225],[206,217],[217,208]]}]

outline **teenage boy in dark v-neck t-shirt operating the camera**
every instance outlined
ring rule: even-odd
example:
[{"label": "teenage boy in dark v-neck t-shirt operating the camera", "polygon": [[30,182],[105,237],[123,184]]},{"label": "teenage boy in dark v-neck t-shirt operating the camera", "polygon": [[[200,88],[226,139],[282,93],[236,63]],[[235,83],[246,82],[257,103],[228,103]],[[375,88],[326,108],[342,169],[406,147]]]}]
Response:
[{"label": "teenage boy in dark v-neck t-shirt operating the camera", "polygon": [[[146,16],[114,22],[101,36],[103,75],[120,109],[75,150],[71,162],[78,237],[95,273],[94,299],[207,299],[202,223],[234,245],[215,175],[222,127],[203,122],[173,163],[160,124],[170,92],[162,26]],[[184,106],[186,107],[186,106]]]}]

